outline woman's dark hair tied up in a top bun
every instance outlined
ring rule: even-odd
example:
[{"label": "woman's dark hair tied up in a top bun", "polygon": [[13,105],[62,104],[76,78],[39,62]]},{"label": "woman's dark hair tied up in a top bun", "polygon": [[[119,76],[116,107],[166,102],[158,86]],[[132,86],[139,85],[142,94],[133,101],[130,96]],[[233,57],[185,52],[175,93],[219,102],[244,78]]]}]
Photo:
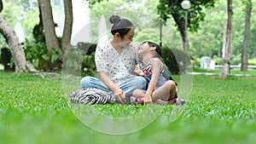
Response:
[{"label": "woman's dark hair tied up in a top bun", "polygon": [[130,20],[120,19],[118,15],[112,15],[109,21],[113,24],[111,33],[114,35],[116,32],[119,32],[121,38],[124,38],[131,31],[131,28],[134,28]]}]

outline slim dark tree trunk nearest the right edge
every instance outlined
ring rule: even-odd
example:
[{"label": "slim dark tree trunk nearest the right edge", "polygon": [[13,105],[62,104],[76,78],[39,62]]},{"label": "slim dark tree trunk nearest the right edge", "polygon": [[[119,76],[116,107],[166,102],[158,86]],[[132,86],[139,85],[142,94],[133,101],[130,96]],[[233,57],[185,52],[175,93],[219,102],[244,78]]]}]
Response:
[{"label": "slim dark tree trunk nearest the right edge", "polygon": [[250,37],[251,13],[252,13],[252,1],[248,0],[246,26],[245,26],[242,53],[241,53],[241,71],[244,71],[244,72],[248,70],[247,43]]}]

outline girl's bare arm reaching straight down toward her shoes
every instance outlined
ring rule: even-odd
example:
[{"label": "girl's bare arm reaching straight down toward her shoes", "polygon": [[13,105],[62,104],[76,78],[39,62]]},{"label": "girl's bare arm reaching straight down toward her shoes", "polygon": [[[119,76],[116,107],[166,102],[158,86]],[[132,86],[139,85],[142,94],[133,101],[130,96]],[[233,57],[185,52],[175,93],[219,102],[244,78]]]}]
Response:
[{"label": "girl's bare arm reaching straight down toward her shoes", "polygon": [[162,62],[158,58],[152,59],[152,77],[148,84],[148,90],[146,92],[146,96],[144,99],[145,103],[151,103],[152,102],[152,94],[154,92],[155,85],[158,82],[158,78],[160,75],[160,69],[162,68]]}]

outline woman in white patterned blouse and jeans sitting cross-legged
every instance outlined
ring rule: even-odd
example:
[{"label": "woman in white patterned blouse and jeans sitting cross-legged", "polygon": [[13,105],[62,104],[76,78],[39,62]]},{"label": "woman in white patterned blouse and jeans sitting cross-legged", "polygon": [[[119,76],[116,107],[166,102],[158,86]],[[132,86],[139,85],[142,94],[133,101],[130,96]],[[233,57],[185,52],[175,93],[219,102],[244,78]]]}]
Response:
[{"label": "woman in white patterned blouse and jeans sitting cross-legged", "polygon": [[101,80],[84,77],[81,86],[107,91],[117,102],[125,104],[125,95],[131,95],[134,89],[146,89],[147,82],[133,72],[138,61],[137,47],[131,43],[135,26],[118,15],[112,15],[109,21],[113,24],[113,37],[96,47],[96,72]]}]

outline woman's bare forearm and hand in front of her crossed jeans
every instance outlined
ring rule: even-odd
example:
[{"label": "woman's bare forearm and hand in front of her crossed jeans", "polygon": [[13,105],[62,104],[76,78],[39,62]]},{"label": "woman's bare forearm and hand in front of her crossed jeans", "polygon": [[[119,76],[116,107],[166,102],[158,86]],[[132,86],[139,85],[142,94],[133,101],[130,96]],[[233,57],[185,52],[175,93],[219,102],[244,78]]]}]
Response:
[{"label": "woman's bare forearm and hand in front of her crossed jeans", "polygon": [[99,72],[100,77],[102,78],[102,82],[113,91],[113,95],[117,101],[125,104],[125,92],[113,82],[111,78],[109,78],[108,72]]}]

